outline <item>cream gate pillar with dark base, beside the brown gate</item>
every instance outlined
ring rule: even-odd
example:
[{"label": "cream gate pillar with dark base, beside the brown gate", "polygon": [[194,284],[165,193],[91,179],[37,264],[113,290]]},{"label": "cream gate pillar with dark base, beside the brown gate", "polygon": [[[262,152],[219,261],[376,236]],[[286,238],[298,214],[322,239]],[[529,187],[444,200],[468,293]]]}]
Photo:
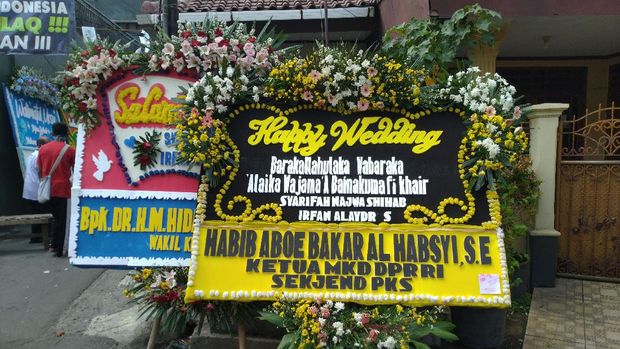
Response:
[{"label": "cream gate pillar with dark base, beside the brown gate", "polygon": [[557,134],[564,103],[543,103],[528,108],[530,157],[540,184],[534,230],[530,232],[531,281],[533,287],[555,287],[558,238],[555,230],[555,175]]}]

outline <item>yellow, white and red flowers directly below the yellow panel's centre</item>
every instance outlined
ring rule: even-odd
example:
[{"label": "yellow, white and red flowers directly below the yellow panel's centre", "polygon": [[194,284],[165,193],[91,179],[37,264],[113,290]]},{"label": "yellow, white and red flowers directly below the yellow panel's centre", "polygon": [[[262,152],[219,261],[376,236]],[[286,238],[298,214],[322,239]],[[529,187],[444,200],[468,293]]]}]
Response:
[{"label": "yellow, white and red flowers directly below the yellow panel's centre", "polygon": [[429,348],[420,341],[432,335],[454,341],[443,308],[418,310],[400,305],[361,306],[330,300],[278,301],[261,319],[285,328],[279,348]]}]

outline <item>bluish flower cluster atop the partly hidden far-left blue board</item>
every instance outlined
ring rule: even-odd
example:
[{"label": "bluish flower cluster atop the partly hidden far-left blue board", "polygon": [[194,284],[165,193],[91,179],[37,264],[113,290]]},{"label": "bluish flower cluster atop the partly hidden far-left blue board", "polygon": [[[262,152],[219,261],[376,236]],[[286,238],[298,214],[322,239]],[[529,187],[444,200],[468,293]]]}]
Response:
[{"label": "bluish flower cluster atop the partly hidden far-left blue board", "polygon": [[38,99],[52,107],[60,107],[58,87],[43,78],[43,74],[34,68],[19,68],[11,78],[9,88],[15,93]]}]

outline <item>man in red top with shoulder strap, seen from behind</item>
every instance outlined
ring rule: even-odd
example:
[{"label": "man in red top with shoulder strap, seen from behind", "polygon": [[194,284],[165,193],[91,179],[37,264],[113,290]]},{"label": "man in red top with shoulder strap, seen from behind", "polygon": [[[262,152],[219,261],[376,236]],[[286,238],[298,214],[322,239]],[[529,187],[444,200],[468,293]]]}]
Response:
[{"label": "man in red top with shoulder strap, seen from behind", "polygon": [[[49,142],[39,149],[37,165],[39,166],[39,178],[48,176],[54,162],[61,155],[67,145],[69,128],[62,122],[52,125],[54,141]],[[50,252],[62,257],[65,244],[65,230],[67,228],[67,199],[71,197],[71,173],[75,163],[75,149],[68,146],[52,173],[50,207],[54,216]]]}]

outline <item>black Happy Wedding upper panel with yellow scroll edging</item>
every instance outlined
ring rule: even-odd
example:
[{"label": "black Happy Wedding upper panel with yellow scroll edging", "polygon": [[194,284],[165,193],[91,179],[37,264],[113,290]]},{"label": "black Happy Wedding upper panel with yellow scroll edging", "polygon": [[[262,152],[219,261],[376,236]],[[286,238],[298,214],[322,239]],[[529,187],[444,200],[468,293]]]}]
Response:
[{"label": "black Happy Wedding upper panel with yellow scroll edging", "polygon": [[[457,160],[465,125],[454,113],[249,108],[228,131],[241,154],[239,171],[228,189],[210,191],[207,220],[221,219],[214,207],[218,193],[224,193],[225,214],[240,215],[246,205],[230,209],[228,202],[243,196],[253,208],[279,205],[288,222],[407,223],[410,205],[436,214],[446,198],[468,205]],[[489,220],[484,189],[473,196],[475,213],[458,223]],[[450,217],[463,211],[445,207]]]}]

